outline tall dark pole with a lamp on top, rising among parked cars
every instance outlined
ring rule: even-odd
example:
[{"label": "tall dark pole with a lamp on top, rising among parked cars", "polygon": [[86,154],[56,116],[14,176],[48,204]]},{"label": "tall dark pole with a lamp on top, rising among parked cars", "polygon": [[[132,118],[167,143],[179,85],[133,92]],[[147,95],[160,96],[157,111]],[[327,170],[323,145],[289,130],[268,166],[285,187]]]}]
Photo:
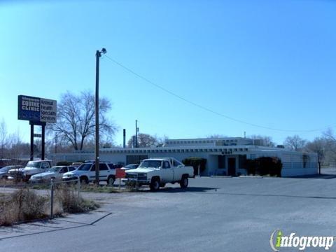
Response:
[{"label": "tall dark pole with a lamp on top, rising among parked cars", "polygon": [[96,102],[94,106],[94,112],[96,117],[96,150],[95,150],[95,172],[96,172],[96,183],[99,186],[99,58],[102,57],[102,53],[106,53],[106,49],[102,48],[101,51],[96,51]]}]

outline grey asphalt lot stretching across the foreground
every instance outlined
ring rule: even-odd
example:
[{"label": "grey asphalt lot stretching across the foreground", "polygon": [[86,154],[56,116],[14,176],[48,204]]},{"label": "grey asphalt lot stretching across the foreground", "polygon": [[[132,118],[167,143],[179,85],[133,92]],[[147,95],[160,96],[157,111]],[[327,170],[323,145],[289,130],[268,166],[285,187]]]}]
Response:
[{"label": "grey asphalt lot stretching across the foreground", "polygon": [[1,251],[271,251],[269,237],[278,228],[286,235],[336,235],[334,176],[197,178],[187,190],[85,196],[102,208],[1,228]]}]

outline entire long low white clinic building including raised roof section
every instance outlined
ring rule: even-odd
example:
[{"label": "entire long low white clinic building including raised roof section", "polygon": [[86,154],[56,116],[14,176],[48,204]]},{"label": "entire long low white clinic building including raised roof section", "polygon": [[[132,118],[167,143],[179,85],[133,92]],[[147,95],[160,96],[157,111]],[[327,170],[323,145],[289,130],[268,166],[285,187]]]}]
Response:
[{"label": "entire long low white clinic building including raised roof section", "polygon": [[[139,163],[146,158],[174,157],[183,160],[190,157],[207,159],[202,176],[246,174],[246,159],[277,157],[283,167],[281,176],[317,174],[317,154],[290,151],[284,148],[260,146],[260,140],[241,137],[219,139],[169,139],[163,147],[151,148],[103,148],[100,160],[114,163]],[[54,162],[94,160],[94,153],[54,154]]]}]

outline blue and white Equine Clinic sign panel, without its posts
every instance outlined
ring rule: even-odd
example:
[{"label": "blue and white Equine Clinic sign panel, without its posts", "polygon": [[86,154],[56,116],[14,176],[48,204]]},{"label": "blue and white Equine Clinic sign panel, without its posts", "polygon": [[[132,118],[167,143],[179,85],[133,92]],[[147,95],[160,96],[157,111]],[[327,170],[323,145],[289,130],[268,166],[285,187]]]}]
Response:
[{"label": "blue and white Equine Clinic sign panel, without its posts", "polygon": [[57,101],[19,95],[18,120],[29,120],[36,123],[56,123]]}]

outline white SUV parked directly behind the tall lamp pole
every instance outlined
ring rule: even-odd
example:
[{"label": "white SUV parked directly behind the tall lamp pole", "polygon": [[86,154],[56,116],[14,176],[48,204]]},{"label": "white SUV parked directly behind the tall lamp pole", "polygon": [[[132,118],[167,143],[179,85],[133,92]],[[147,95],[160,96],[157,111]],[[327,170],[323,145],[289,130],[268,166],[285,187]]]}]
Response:
[{"label": "white SUV parked directly behind the tall lamp pole", "polygon": [[[63,174],[64,181],[80,179],[80,183],[90,183],[96,179],[95,162],[85,162],[78,169]],[[106,181],[109,185],[113,185],[116,181],[116,168],[112,163],[99,162],[99,181]]]}]

